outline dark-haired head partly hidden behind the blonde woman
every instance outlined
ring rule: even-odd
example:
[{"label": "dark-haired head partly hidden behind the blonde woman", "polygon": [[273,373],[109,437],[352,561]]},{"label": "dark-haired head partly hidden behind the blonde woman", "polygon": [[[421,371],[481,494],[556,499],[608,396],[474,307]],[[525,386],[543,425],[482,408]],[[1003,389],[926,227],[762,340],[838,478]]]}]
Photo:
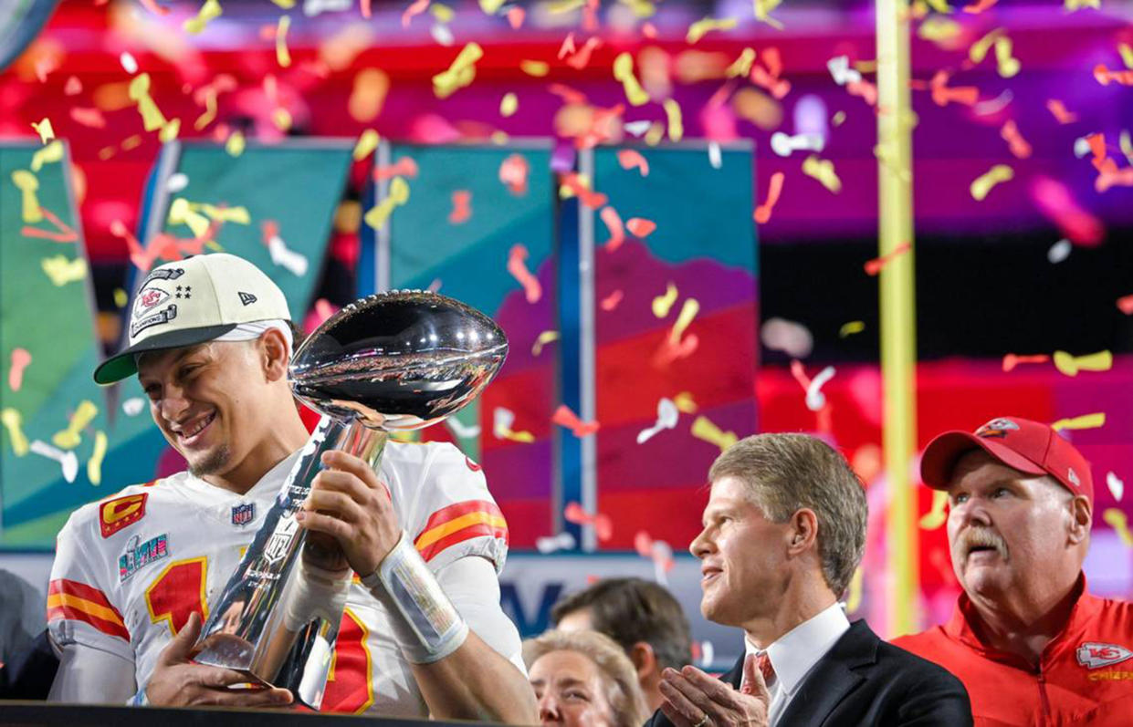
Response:
[{"label": "dark-haired head partly hidden behind the blonde woman", "polygon": [[555,604],[551,621],[560,631],[591,630],[616,641],[654,709],[663,701],[662,670],[692,661],[689,619],[673,595],[651,581],[600,580]]}]

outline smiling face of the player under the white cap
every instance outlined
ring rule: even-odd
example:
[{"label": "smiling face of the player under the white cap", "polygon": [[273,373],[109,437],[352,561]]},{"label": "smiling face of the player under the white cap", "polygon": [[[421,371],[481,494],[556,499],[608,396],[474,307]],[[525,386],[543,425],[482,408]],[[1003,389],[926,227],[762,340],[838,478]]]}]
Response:
[{"label": "smiling face of the player under the white cap", "polygon": [[145,354],[138,380],[165,439],[197,477],[223,477],[261,438],[252,342],[210,342]]}]

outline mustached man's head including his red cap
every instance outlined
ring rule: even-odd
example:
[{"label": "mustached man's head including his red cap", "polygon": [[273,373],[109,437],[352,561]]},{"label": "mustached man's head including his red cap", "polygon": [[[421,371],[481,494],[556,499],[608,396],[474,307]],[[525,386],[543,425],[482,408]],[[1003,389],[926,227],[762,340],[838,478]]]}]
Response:
[{"label": "mustached man's head including his red cap", "polygon": [[1090,463],[1047,425],[1000,417],[929,443],[921,479],[948,494],[952,567],[978,607],[1046,613],[1090,545]]}]

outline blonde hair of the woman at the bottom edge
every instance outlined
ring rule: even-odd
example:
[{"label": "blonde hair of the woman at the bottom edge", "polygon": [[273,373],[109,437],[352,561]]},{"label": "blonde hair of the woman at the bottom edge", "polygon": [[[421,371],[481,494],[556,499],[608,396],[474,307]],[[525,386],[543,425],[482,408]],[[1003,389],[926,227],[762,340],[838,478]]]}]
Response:
[{"label": "blonde hair of the woman at the bottom edge", "polygon": [[649,713],[633,662],[613,639],[596,631],[548,631],[523,642],[527,668],[552,651],[574,651],[598,667],[616,727],[640,727]]}]

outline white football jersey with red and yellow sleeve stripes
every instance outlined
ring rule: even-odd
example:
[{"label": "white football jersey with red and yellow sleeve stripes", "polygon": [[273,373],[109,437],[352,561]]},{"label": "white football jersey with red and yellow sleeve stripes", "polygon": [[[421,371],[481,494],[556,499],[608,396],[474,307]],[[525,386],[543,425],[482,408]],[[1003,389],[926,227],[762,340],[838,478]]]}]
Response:
[{"label": "white football jersey with red and yellow sleeve stripes", "polygon": [[[236,571],[297,457],[276,464],[246,495],[178,472],[77,510],[59,532],[51,568],[52,640],[128,659],[137,685],[145,684],[159,653],[189,614],[208,617],[208,605]],[[503,568],[508,525],[480,468],[457,447],[390,442],[380,479],[390,489],[402,528],[434,573],[467,556],[487,558],[496,573]],[[519,634],[502,617],[499,601],[487,606],[501,618],[486,621],[466,614],[460,600],[454,605],[472,631],[522,669]],[[470,611],[483,613],[485,604],[470,606]],[[356,576],[324,711],[427,716],[387,619]]]}]

